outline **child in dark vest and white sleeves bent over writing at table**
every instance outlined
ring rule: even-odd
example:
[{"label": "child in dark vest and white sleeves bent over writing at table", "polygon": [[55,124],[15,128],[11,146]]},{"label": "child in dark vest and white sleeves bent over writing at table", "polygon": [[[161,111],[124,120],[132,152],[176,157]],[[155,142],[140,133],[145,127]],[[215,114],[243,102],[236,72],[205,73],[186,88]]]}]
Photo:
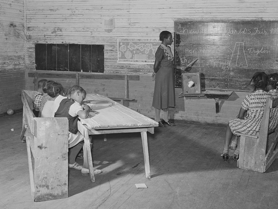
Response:
[{"label": "child in dark vest and white sleeves bent over writing at table", "polygon": [[[87,105],[83,108],[81,106],[81,103],[86,97],[86,91],[81,86],[73,85],[68,91],[68,96],[70,98],[67,97],[61,100],[54,117],[67,117],[69,120],[68,167],[81,170],[81,173],[86,175],[89,173],[87,152],[85,146],[83,147],[84,143],[82,141],[84,137],[78,131],[77,121],[78,117],[82,119],[87,118],[91,108]],[[82,147],[84,152],[83,166],[75,162],[75,158]],[[101,170],[94,168],[95,175],[101,172]]]}]

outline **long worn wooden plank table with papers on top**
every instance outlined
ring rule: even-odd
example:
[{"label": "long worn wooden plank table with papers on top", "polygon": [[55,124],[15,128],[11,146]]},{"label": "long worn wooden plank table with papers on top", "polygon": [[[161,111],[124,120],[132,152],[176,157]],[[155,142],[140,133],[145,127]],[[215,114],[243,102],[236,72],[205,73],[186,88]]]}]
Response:
[{"label": "long worn wooden plank table with papers on top", "polygon": [[[112,103],[106,106],[91,106],[96,114],[80,119],[89,135],[141,132],[145,173],[148,179],[151,178],[147,132],[154,134],[154,128],[158,126],[158,122],[99,94],[87,94],[84,101],[86,100],[108,100]],[[92,174],[91,179],[93,182],[94,175],[92,177]]]}]

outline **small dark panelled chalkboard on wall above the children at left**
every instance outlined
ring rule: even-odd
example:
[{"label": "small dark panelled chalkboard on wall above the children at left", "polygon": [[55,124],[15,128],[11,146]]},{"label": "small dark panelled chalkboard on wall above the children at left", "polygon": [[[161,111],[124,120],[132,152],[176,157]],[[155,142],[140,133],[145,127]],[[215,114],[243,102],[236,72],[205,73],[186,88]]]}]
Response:
[{"label": "small dark panelled chalkboard on wall above the children at left", "polygon": [[104,45],[35,44],[36,70],[104,72]]}]

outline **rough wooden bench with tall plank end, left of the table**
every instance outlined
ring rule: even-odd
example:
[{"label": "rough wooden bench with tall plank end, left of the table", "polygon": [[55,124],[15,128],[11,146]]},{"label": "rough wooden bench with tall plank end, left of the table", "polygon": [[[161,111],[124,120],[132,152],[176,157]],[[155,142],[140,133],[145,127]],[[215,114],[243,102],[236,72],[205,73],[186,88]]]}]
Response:
[{"label": "rough wooden bench with tall plank end, left of the table", "polygon": [[22,91],[23,132],[26,137],[31,195],[35,201],[68,197],[68,119],[36,118],[33,96]]}]

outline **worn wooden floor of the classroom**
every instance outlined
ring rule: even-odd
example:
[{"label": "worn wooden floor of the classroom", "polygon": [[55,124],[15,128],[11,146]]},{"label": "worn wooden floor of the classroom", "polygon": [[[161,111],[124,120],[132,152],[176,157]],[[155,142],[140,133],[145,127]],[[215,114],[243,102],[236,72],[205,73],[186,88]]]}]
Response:
[{"label": "worn wooden floor of the classroom", "polygon": [[[277,159],[263,174],[239,169],[220,156],[224,127],[192,123],[148,133],[151,179],[145,177],[140,133],[108,134],[106,142],[99,135],[93,160],[103,173],[95,183],[72,169],[68,198],[34,202],[26,143],[19,140],[22,112],[0,117],[0,124],[1,209],[278,208]],[[137,189],[136,183],[148,188]]]}]

